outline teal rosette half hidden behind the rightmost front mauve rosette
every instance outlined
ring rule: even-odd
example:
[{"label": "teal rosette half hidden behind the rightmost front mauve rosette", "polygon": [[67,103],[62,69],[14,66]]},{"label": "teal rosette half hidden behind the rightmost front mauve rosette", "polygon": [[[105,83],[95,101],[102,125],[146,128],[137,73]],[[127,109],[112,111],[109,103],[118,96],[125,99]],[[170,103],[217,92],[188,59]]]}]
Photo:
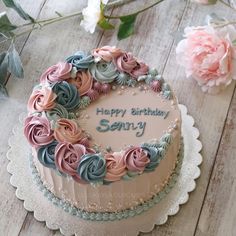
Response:
[{"label": "teal rosette half hidden behind the rightmost front mauve rosette", "polygon": [[145,171],[149,172],[155,170],[160,163],[157,148],[148,144],[141,145],[141,148],[147,153],[147,156],[150,159],[150,162],[145,167]]}]

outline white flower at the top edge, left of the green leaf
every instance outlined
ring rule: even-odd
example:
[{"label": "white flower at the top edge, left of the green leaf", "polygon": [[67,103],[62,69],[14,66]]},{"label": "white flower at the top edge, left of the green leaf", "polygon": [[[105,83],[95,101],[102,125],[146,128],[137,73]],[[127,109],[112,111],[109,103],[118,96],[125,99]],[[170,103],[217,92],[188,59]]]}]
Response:
[{"label": "white flower at the top edge, left of the green leaf", "polygon": [[91,34],[94,33],[101,18],[101,3],[107,4],[109,0],[88,0],[88,6],[82,10],[83,20],[80,25]]}]

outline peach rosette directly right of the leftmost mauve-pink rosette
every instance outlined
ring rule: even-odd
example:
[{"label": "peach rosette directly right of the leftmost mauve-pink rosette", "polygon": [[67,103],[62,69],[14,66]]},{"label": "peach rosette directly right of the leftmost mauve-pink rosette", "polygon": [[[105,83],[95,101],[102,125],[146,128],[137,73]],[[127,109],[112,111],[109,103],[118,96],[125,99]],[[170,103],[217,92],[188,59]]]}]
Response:
[{"label": "peach rosette directly right of the leftmost mauve-pink rosette", "polygon": [[82,130],[76,121],[59,119],[54,129],[54,137],[58,142],[79,143],[84,138]]}]

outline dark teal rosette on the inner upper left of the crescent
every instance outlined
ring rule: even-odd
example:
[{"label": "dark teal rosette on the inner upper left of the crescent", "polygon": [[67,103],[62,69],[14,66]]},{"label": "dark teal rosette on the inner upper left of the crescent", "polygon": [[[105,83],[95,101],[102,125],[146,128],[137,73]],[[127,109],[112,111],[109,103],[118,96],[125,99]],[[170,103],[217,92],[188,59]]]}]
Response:
[{"label": "dark teal rosette on the inner upper left of the crescent", "polygon": [[73,84],[62,81],[60,83],[54,84],[52,89],[57,95],[56,102],[62,105],[68,111],[73,111],[79,107],[79,92]]}]

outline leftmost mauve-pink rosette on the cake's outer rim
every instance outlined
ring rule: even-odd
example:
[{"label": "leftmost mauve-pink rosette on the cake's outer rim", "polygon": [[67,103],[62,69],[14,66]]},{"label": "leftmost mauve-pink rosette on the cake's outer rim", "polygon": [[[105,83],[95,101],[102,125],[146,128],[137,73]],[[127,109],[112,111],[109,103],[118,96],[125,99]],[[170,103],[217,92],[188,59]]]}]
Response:
[{"label": "leftmost mauve-pink rosette on the cake's outer rim", "polygon": [[31,146],[38,148],[54,140],[50,123],[45,117],[29,116],[24,122],[24,135]]}]

